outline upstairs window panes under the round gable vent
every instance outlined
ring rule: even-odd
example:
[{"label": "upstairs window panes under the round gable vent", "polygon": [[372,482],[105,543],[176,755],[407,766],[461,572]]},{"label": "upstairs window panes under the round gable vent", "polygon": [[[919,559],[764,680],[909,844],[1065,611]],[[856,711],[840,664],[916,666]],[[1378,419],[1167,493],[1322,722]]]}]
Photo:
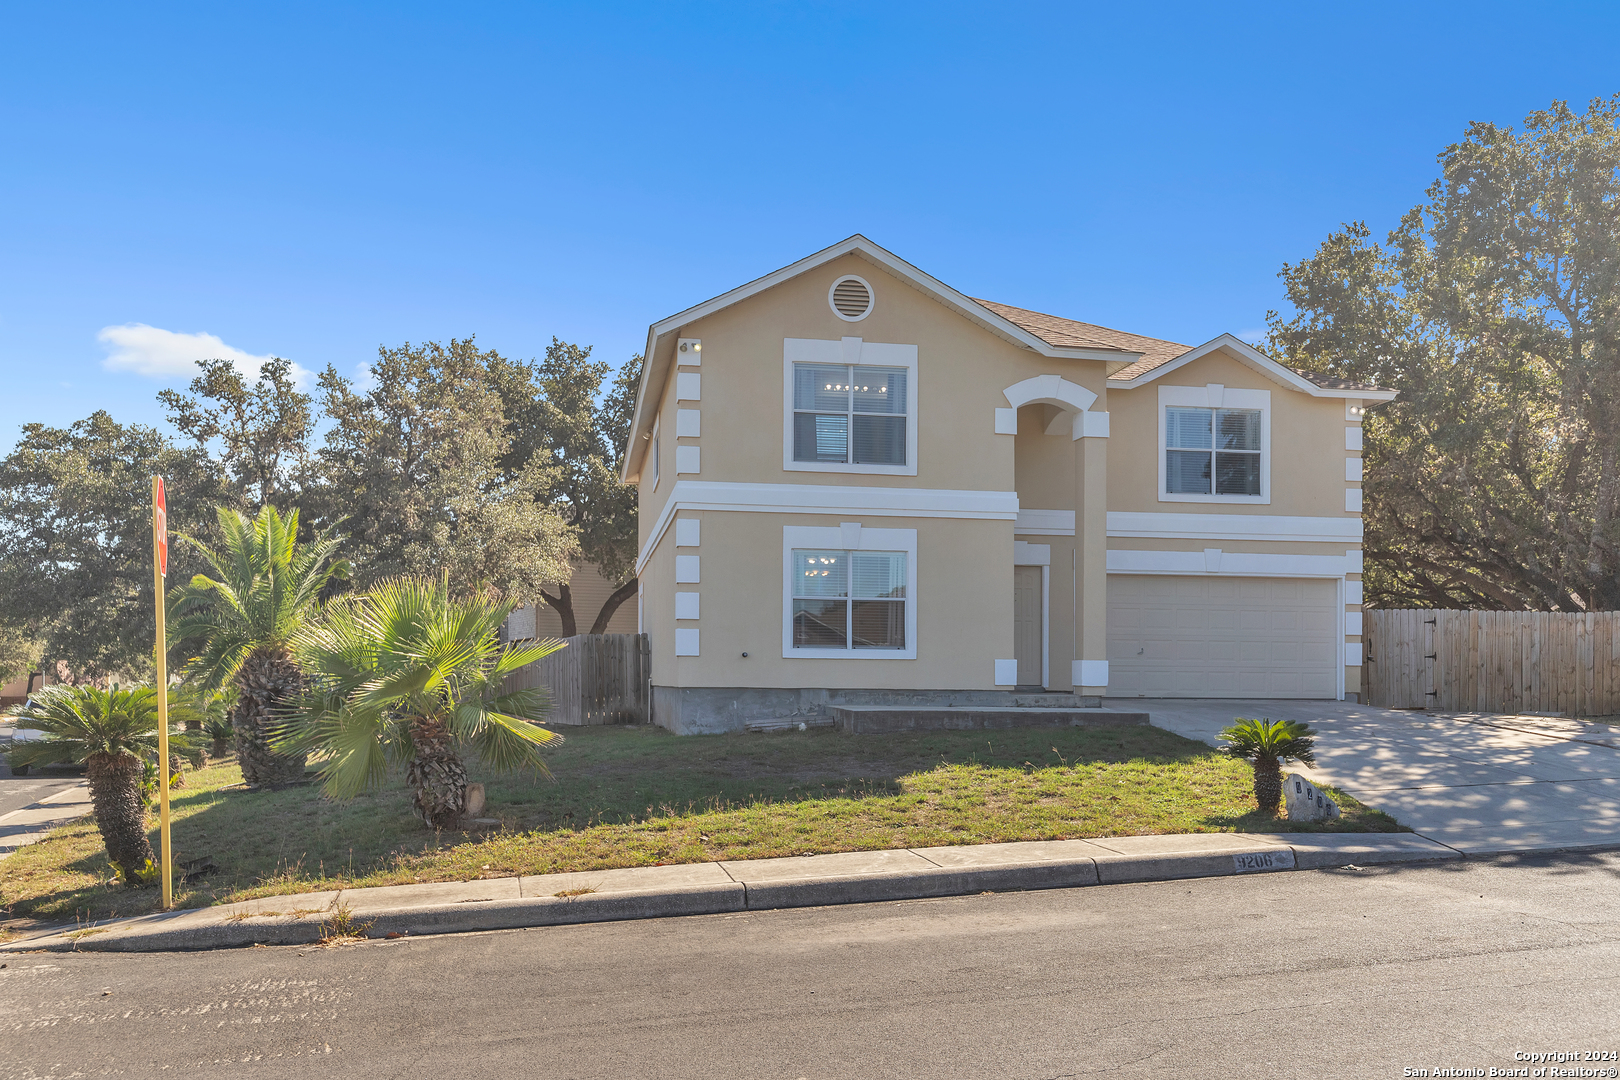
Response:
[{"label": "upstairs window panes under the round gable vent", "polygon": [[907,369],[794,364],[794,461],[907,465]]}]

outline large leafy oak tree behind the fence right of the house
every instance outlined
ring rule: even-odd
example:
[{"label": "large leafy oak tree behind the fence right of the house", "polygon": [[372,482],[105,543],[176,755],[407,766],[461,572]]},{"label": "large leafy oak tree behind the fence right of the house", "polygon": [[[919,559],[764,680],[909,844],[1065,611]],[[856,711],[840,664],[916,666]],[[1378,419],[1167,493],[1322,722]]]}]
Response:
[{"label": "large leafy oak tree behind the fence right of the house", "polygon": [[1366,418],[1374,606],[1620,607],[1620,96],[1474,123],[1385,243],[1285,266],[1286,363]]}]

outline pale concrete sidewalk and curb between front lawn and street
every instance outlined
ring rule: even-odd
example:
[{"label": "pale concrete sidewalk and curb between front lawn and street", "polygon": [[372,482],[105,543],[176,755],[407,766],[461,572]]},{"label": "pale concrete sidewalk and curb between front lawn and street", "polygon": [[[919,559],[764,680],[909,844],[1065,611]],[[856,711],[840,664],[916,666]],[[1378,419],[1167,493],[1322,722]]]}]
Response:
[{"label": "pale concrete sidewalk and curb between front lawn and street", "polygon": [[369,938],[446,934],[1447,858],[1461,853],[1409,832],[1200,832],[846,852],[305,892],[53,928],[0,952],[308,944],[334,928],[334,916]]}]

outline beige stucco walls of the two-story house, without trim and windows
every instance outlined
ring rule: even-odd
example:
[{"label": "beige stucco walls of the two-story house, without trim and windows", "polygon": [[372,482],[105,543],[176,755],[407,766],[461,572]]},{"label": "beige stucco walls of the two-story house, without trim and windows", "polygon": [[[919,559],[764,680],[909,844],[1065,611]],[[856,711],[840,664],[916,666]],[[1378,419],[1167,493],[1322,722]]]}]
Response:
[{"label": "beige stucco walls of the two-story house, without trim and windows", "polygon": [[[831,283],[859,274],[875,291],[872,316],[844,322],[828,308]],[[1013,491],[1025,508],[1079,510],[1079,536],[1019,534],[1051,547],[1048,670],[1051,688],[1069,688],[1071,659],[1106,656],[1105,549],[1330,554],[1356,544],[1291,541],[1132,539],[1105,536],[1097,492],[1106,486],[1106,510],[1176,515],[1346,517],[1345,402],[1312,398],[1267,379],[1243,361],[1212,353],[1136,390],[1108,390],[1100,361],[1051,359],[1019,348],[956,316],[909,283],[859,256],[846,256],[680,329],[700,338],[701,364],[671,364],[661,387],[648,387],[659,423],[659,483],[640,470],[643,549],[666,500],[684,479],[813,484],[831,487],[927,487]],[[919,374],[917,474],[893,476],[842,470],[782,468],[784,359],[787,337],[915,345]],[[676,376],[701,374],[701,398],[676,400]],[[1059,374],[1098,395],[1094,411],[1108,411],[1111,437],[1074,440],[1047,436],[1055,410],[1019,411],[1017,436],[1000,436],[993,410],[1008,405],[1003,390],[1038,374]],[[1220,382],[1270,392],[1270,500],[1158,500],[1158,385]],[[676,436],[676,410],[703,418],[697,439]],[[677,445],[701,447],[698,474],[676,473]],[[1087,484],[1092,510],[1084,507]],[[643,627],[653,638],[653,682],[666,687],[867,687],[993,688],[996,657],[1013,656],[1011,521],[959,518],[875,518],[859,513],[682,512],[703,520],[703,542],[680,554],[701,557],[703,581],[674,583],[676,536],[659,541],[642,575]],[[781,529],[862,520],[868,528],[919,529],[919,656],[915,661],[784,659],[781,649]],[[1079,570],[1079,575],[1076,575]],[[1076,580],[1079,576],[1079,580]],[[1354,578],[1353,578],[1354,580]],[[697,591],[703,617],[674,619],[676,591]],[[630,606],[627,606],[629,610]],[[1349,610],[1356,610],[1351,606]],[[1079,625],[1076,625],[1079,623]],[[676,627],[701,631],[701,656],[676,657]],[[1354,641],[1354,638],[1351,638]],[[742,653],[748,657],[744,659]],[[1346,672],[1354,691],[1359,669]]]}]

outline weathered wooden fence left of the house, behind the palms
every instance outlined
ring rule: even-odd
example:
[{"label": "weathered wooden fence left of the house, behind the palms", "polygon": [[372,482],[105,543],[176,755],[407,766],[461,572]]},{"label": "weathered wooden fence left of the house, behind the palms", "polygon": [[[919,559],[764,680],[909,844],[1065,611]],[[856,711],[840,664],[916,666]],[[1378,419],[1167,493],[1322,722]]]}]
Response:
[{"label": "weathered wooden fence left of the house, behind the palms", "polygon": [[507,688],[549,690],[552,724],[646,722],[653,665],[645,633],[582,633],[564,643],[507,675]]}]

